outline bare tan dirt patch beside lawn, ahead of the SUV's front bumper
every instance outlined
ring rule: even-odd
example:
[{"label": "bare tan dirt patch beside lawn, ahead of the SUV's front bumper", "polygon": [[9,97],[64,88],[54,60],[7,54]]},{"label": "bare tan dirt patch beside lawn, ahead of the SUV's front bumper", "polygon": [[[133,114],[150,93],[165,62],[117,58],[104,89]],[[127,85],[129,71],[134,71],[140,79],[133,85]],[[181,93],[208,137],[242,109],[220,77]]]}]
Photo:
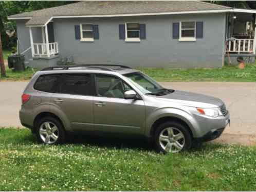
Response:
[{"label": "bare tan dirt patch beside lawn, ahead of the SUV's front bumper", "polygon": [[222,144],[239,144],[245,146],[256,145],[256,135],[246,135],[246,134],[222,134],[220,138],[217,138],[213,143],[222,143]]}]

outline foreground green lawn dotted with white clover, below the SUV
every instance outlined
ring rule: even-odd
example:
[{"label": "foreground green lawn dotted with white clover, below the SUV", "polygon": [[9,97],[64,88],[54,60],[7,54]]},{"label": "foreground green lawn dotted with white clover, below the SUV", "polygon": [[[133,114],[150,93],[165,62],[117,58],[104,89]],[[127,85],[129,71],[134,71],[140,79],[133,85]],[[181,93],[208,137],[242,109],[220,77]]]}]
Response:
[{"label": "foreground green lawn dotted with white clover, below the SUV", "polygon": [[164,156],[143,141],[74,140],[49,146],[29,130],[0,129],[0,190],[256,190],[256,147]]}]

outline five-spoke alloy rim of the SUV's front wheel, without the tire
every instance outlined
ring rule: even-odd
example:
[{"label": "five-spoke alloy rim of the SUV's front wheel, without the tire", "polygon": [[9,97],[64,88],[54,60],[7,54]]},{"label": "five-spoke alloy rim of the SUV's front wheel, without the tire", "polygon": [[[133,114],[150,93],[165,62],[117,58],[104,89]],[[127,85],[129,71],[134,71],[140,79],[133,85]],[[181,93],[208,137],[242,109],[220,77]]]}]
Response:
[{"label": "five-spoke alloy rim of the SUV's front wheel, without the tire", "polygon": [[185,136],[175,127],[167,127],[159,134],[159,143],[165,152],[177,153],[185,145]]}]

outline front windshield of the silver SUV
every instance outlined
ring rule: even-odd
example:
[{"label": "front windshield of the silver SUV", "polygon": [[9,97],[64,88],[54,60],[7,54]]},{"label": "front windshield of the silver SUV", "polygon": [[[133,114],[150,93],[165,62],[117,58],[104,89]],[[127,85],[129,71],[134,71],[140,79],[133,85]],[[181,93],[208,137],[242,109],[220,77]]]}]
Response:
[{"label": "front windshield of the silver SUV", "polygon": [[143,94],[148,95],[166,95],[172,93],[173,90],[164,89],[154,79],[140,72],[128,73],[123,76],[134,84]]}]

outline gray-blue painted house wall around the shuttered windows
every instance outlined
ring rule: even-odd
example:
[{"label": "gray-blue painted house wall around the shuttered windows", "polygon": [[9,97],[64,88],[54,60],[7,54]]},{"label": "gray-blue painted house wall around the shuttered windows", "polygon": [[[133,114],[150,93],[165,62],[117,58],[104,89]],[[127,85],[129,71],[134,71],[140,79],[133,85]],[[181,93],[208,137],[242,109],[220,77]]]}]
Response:
[{"label": "gray-blue painted house wall around the shuttered windows", "polygon": [[[65,18],[54,19],[53,23],[60,56],[72,56],[77,63],[119,63],[131,67],[216,68],[222,67],[224,62],[225,18],[225,13],[218,13]],[[172,23],[182,20],[204,22],[204,37],[193,42],[173,39]],[[119,24],[125,22],[145,24],[146,39],[140,42],[120,40]],[[99,25],[99,40],[94,42],[76,40],[74,26],[80,23]],[[23,47],[28,47],[29,33],[28,29],[24,29],[25,22],[23,26],[17,26]]]}]

